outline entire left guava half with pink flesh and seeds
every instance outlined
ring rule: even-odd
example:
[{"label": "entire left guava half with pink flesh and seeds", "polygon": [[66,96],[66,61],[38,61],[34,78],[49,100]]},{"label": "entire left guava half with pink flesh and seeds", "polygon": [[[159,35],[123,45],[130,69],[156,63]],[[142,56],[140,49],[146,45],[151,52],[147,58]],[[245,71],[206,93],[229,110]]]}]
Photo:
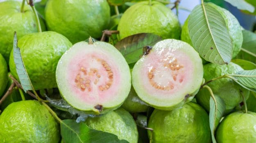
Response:
[{"label": "entire left guava half with pink flesh and seeds", "polygon": [[59,60],[56,80],[61,96],[74,108],[103,114],[122,105],[131,88],[129,66],[106,42],[78,42]]}]

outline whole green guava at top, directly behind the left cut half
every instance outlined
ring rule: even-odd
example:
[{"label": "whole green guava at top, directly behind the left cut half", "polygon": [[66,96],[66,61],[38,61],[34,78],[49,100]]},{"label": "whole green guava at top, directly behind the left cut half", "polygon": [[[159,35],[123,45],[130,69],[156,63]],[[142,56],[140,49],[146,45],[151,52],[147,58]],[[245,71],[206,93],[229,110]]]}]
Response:
[{"label": "whole green guava at top, directly behind the left cut half", "polygon": [[110,20],[106,0],[49,0],[45,7],[49,31],[66,36],[73,44],[89,36],[100,38]]}]

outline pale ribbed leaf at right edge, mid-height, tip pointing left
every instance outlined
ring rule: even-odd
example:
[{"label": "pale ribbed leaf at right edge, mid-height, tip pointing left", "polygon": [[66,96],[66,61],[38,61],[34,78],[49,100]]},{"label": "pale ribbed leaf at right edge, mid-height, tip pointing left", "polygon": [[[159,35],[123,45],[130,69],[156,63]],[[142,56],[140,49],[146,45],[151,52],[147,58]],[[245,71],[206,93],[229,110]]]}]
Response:
[{"label": "pale ribbed leaf at right edge, mid-height, tip pointing left", "polygon": [[235,78],[236,83],[242,87],[256,92],[256,69],[238,71],[236,74],[231,74]]}]

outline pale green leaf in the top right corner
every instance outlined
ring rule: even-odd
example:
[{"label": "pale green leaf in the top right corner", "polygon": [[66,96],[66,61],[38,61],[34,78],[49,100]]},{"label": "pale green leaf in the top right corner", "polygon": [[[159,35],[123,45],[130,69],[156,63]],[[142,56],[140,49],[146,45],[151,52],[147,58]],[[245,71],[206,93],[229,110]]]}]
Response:
[{"label": "pale green leaf in the top right corner", "polygon": [[255,8],[245,0],[225,0],[226,2],[229,2],[231,5],[234,7],[237,7],[238,9],[241,10],[247,10],[251,13],[254,12]]}]

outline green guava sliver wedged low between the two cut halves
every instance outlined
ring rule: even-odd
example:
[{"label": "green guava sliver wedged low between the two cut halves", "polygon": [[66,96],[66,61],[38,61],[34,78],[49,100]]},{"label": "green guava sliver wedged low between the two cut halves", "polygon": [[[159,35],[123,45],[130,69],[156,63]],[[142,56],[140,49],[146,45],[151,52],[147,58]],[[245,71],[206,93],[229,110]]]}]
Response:
[{"label": "green guava sliver wedged low between the two cut halves", "polygon": [[149,106],[138,97],[134,87],[131,86],[131,91],[121,107],[130,113],[138,113],[147,112]]}]

